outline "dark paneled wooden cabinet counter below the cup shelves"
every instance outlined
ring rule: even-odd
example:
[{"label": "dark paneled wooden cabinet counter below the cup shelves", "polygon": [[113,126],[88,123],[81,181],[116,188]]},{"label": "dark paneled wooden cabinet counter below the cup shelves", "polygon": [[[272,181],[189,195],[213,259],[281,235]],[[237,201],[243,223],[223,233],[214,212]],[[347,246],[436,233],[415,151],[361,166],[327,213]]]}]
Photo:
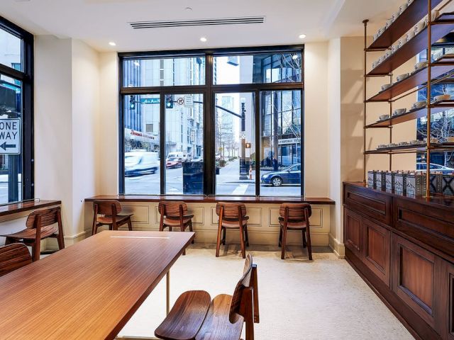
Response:
[{"label": "dark paneled wooden cabinet counter below the cup shelves", "polygon": [[345,258],[416,339],[454,340],[454,197],[343,183]]}]

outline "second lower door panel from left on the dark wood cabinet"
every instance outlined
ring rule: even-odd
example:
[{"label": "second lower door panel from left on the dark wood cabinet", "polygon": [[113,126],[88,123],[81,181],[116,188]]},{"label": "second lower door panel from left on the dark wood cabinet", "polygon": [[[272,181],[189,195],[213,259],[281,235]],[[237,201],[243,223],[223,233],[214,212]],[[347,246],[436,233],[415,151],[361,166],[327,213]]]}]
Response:
[{"label": "second lower door panel from left on the dark wood cabinet", "polygon": [[363,219],[362,222],[365,232],[364,263],[389,287],[391,232],[369,220]]}]

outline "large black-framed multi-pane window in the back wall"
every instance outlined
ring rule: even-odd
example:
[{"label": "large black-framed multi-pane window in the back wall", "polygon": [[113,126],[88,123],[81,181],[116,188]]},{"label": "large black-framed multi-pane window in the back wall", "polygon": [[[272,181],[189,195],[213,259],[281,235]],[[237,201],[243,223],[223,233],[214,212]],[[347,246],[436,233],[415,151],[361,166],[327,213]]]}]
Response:
[{"label": "large black-framed multi-pane window in the back wall", "polygon": [[121,193],[303,195],[302,46],[119,57]]}]

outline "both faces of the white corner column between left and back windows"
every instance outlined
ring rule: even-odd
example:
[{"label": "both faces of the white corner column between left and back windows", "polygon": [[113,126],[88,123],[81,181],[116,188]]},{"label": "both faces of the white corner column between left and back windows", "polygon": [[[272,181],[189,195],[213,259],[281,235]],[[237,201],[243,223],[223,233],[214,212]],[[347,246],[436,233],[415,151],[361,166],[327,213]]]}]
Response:
[{"label": "both faces of the white corner column between left and back windows", "polygon": [[84,198],[98,193],[99,54],[35,36],[35,197],[62,200],[66,244],[84,237]]}]

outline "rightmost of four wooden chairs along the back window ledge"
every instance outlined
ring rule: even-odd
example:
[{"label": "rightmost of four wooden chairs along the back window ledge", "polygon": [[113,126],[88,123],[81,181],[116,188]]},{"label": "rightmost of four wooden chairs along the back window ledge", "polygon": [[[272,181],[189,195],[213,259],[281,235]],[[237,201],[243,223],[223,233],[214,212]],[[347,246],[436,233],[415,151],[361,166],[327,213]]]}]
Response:
[{"label": "rightmost of four wooden chairs along the back window ledge", "polygon": [[[279,246],[282,246],[281,259],[285,259],[287,244],[287,230],[301,230],[303,248],[307,246],[309,260],[312,259],[311,231],[309,217],[312,215],[311,205],[308,203],[282,203],[279,208]],[[307,240],[306,240],[307,237]]]}]

